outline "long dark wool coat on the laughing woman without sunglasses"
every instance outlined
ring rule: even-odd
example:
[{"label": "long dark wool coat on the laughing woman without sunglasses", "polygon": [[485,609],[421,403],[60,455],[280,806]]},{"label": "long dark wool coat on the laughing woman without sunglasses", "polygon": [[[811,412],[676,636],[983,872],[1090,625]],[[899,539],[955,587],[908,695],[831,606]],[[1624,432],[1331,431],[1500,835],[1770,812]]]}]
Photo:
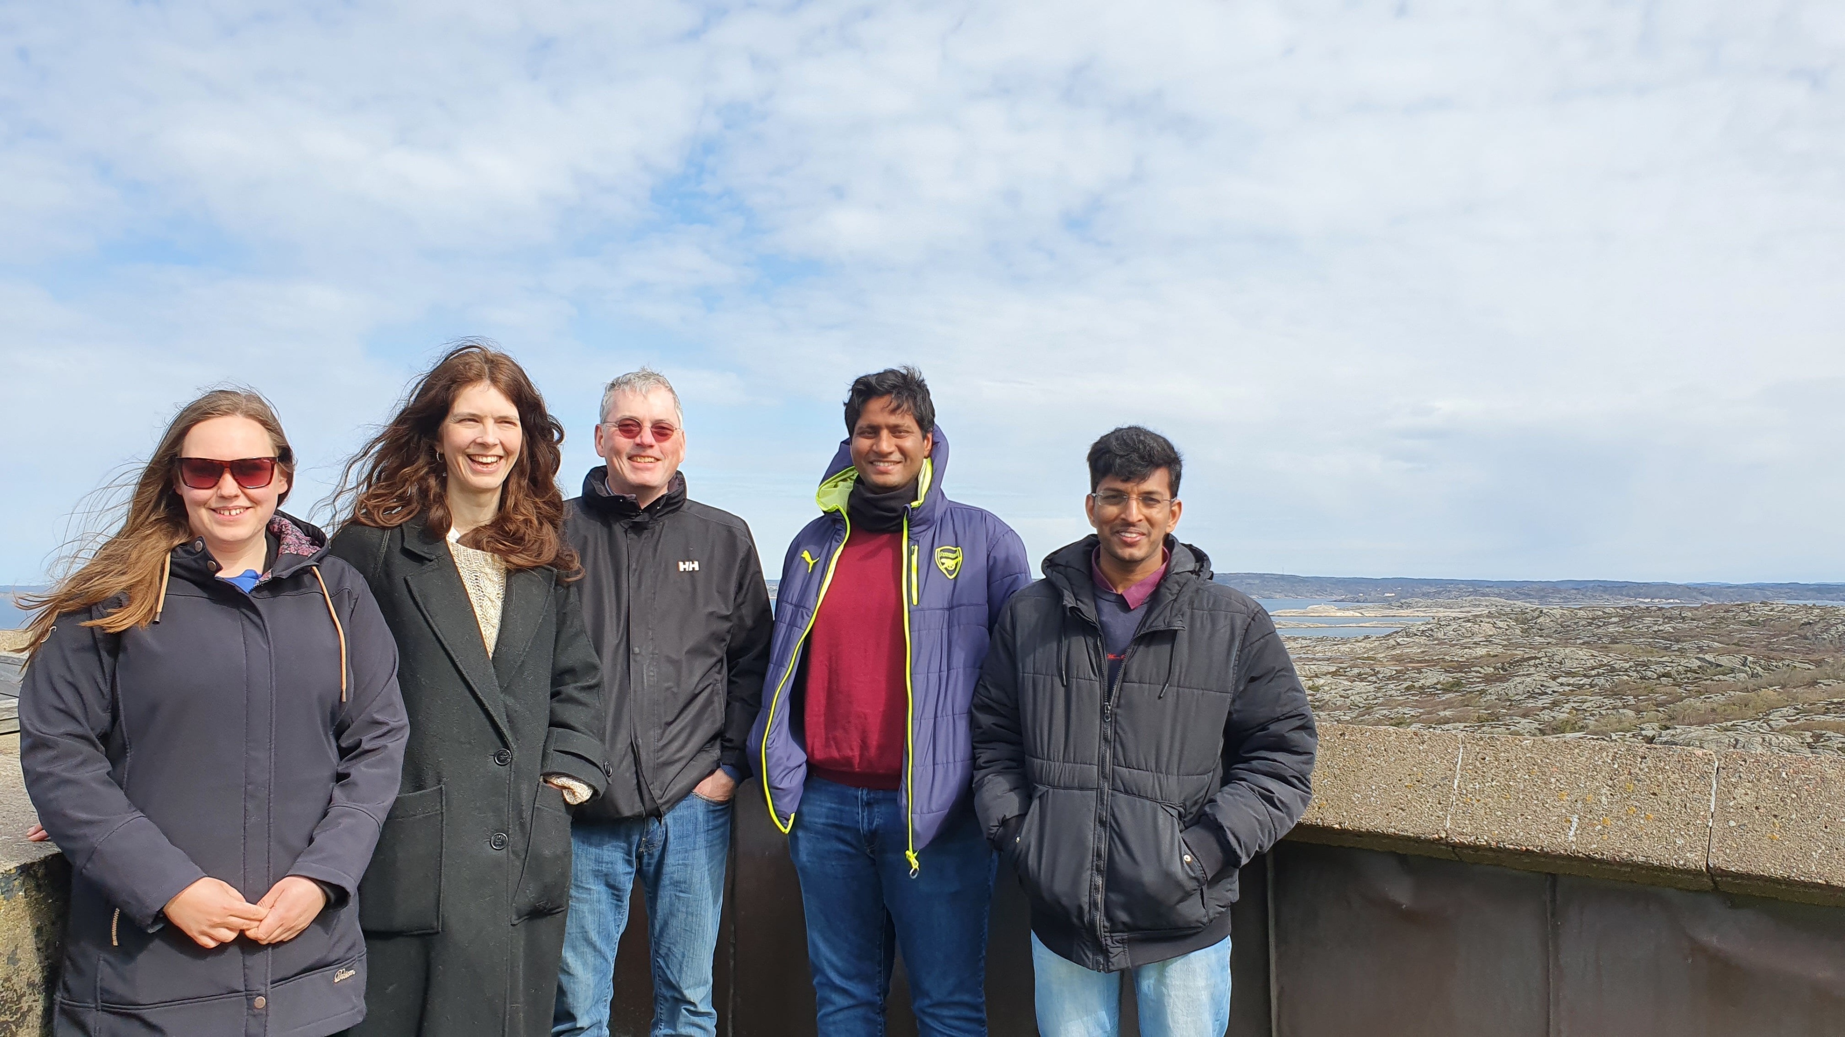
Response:
[{"label": "long dark wool coat on the laughing woman without sunglasses", "polygon": [[448,542],[349,524],[334,554],[397,635],[404,782],[360,886],[376,1037],[550,1033],[570,904],[570,816],[542,775],[605,784],[603,699],[576,583],[506,576],[493,657]]}]

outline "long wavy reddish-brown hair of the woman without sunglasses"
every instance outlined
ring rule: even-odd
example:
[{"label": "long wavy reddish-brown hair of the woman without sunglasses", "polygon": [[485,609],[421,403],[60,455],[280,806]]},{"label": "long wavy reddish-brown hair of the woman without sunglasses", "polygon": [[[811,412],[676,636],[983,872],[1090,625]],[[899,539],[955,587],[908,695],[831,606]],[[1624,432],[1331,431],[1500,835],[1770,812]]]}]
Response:
[{"label": "long wavy reddish-brown hair of the woman without sunglasses", "polygon": [[352,456],[334,491],[334,513],[347,522],[391,530],[423,518],[434,537],[446,537],[446,465],[435,456],[443,421],[456,397],[487,384],[518,410],[520,447],[500,489],[500,513],[469,530],[461,542],[500,555],[507,568],[577,570],[565,542],[565,495],[557,489],[565,426],[544,410],[544,397],[517,360],[485,340],[463,340],[410,387],[397,417]]}]

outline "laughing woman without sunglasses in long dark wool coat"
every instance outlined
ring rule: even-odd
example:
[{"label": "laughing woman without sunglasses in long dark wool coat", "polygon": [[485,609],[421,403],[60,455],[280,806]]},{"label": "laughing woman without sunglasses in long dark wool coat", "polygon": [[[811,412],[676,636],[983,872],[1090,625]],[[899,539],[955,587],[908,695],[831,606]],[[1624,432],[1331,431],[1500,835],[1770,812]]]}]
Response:
[{"label": "laughing woman without sunglasses in long dark wool coat", "polygon": [[402,792],[360,889],[373,982],[356,1033],[550,1031],[565,806],[605,781],[559,443],[518,364],[467,341],[347,465],[334,552],[378,596],[410,710]]}]

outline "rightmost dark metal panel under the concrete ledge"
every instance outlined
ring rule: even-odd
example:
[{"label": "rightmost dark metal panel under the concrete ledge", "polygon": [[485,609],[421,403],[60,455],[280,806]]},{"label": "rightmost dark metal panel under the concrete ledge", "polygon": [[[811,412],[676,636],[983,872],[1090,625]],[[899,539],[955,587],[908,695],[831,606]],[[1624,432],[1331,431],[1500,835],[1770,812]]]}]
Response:
[{"label": "rightmost dark metal panel under the concrete ledge", "polygon": [[1555,882],[1557,1037],[1845,1033],[1845,910]]}]

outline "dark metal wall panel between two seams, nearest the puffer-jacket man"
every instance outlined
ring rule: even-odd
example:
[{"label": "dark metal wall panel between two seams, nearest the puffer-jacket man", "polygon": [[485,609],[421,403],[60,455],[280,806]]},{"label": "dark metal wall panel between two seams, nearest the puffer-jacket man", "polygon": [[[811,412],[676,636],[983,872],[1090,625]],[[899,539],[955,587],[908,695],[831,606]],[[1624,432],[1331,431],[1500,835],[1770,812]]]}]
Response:
[{"label": "dark metal wall panel between two seams, nearest the puffer-jacket man", "polygon": [[1546,876],[1275,851],[1279,1037],[1546,1037]]}]

